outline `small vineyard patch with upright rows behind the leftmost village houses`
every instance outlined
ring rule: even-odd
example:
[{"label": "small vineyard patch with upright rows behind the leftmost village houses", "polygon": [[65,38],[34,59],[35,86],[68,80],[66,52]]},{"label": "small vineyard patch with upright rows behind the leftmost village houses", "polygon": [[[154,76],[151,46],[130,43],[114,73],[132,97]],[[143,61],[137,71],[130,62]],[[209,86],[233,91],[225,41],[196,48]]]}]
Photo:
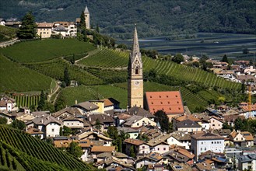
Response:
[{"label": "small vineyard patch with upright rows behind the leftmost village houses", "polygon": [[24,95],[24,96],[12,96],[13,99],[16,99],[16,106],[18,107],[28,107],[35,106],[37,107],[37,104],[40,100],[39,95]]}]

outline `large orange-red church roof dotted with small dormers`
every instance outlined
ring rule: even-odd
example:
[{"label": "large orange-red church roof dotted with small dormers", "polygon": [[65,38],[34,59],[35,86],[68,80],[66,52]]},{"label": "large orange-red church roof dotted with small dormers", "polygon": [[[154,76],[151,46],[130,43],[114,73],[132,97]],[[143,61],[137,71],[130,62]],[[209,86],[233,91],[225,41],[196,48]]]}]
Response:
[{"label": "large orange-red church roof dotted with small dormers", "polygon": [[163,110],[167,114],[184,113],[181,92],[146,92],[146,102],[150,113]]}]

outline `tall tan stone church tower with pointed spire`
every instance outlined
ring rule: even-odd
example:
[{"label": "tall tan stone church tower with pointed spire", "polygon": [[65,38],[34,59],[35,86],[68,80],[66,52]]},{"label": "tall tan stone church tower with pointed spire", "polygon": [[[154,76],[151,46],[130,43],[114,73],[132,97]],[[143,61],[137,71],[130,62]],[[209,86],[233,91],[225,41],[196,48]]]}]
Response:
[{"label": "tall tan stone church tower with pointed spire", "polygon": [[132,52],[128,63],[128,107],[143,108],[143,71],[142,54],[139,51],[139,40],[135,27]]}]

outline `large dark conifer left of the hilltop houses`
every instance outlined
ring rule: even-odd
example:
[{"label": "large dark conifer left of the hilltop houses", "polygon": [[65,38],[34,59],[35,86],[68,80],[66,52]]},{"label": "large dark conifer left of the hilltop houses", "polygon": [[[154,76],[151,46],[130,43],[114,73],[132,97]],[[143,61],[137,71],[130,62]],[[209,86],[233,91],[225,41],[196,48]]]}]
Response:
[{"label": "large dark conifer left of the hilltop houses", "polygon": [[33,39],[37,34],[36,28],[37,25],[34,22],[32,12],[27,12],[22,19],[22,24],[17,32],[17,37],[19,37],[19,39]]}]

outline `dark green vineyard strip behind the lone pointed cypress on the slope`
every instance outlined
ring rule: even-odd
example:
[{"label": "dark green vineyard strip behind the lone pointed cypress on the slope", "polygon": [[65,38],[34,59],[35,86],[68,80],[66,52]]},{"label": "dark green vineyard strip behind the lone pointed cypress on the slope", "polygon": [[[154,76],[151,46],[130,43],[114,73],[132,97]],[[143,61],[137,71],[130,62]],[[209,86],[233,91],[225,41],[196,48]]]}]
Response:
[{"label": "dark green vineyard strip behind the lone pointed cypress on the slope", "polygon": [[68,68],[70,78],[79,82],[79,84],[89,86],[103,83],[103,81],[96,76],[75,65],[70,65],[67,61],[61,58],[26,64],[26,67],[58,80],[63,80],[64,70],[65,68]]}]

